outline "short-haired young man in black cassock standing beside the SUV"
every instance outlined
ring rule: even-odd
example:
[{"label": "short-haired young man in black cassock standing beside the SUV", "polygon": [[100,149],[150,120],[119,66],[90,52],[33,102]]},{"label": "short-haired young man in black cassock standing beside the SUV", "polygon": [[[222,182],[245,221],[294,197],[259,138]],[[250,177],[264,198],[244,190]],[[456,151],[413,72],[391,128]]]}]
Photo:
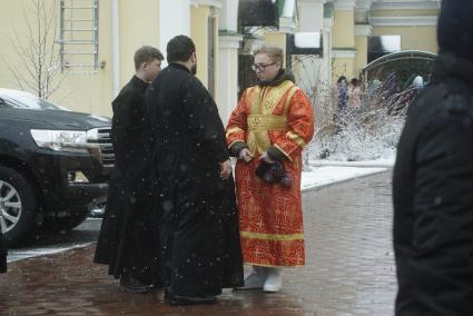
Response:
[{"label": "short-haired young man in black cassock standing beside the SUV", "polygon": [[141,47],[135,53],[136,75],[112,102],[116,157],[107,210],[95,261],[132,293],[146,293],[158,279],[158,208],[151,197],[152,132],[145,118],[145,91],[161,70],[162,53]]}]

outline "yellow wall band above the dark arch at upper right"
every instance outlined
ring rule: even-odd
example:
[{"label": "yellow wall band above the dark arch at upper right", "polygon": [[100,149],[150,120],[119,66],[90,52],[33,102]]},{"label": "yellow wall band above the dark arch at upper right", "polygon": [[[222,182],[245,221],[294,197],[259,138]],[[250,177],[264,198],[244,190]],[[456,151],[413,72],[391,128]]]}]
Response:
[{"label": "yellow wall band above the dark arch at upper right", "polygon": [[372,36],[401,36],[402,50],[438,50],[435,27],[375,27]]}]

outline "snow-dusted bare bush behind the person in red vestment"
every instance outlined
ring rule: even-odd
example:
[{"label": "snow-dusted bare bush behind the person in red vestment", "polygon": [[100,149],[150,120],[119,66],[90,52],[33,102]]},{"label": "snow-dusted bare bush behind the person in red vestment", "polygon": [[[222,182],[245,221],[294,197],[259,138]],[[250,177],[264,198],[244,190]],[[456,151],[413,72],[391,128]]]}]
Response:
[{"label": "snow-dusted bare bush behind the person in red vestment", "polygon": [[317,90],[309,93],[316,131],[304,152],[305,169],[309,159],[359,161],[395,155],[412,90],[365,93],[359,108],[345,111],[338,110],[336,88],[321,85]]}]

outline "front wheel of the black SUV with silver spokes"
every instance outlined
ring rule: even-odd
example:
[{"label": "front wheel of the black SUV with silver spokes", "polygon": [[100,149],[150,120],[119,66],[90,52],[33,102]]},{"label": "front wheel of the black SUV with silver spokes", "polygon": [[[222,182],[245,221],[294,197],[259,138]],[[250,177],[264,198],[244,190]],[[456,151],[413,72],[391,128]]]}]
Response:
[{"label": "front wheel of the black SUV with silver spokes", "polygon": [[27,178],[0,166],[0,227],[8,245],[18,245],[30,233],[36,213],[35,191]]}]

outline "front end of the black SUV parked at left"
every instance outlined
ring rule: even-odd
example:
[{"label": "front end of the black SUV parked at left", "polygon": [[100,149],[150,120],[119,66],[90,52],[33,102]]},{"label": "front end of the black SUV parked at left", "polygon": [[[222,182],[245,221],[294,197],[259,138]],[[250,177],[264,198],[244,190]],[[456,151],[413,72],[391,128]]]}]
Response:
[{"label": "front end of the black SUV parked at left", "polygon": [[18,244],[39,226],[71,229],[106,200],[110,119],[0,89],[0,226]]}]

